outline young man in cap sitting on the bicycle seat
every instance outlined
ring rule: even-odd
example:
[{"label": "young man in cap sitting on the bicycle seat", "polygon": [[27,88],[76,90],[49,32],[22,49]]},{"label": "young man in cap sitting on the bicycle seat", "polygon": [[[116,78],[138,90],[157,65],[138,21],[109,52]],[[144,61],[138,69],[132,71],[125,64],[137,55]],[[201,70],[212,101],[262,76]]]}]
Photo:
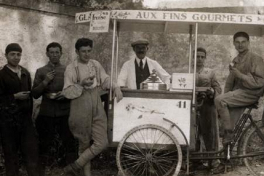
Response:
[{"label": "young man in cap sitting on the bicycle seat", "polygon": [[230,73],[225,82],[224,94],[215,99],[224,129],[224,146],[233,141],[234,126],[242,113],[234,111],[258,102],[264,91],[264,62],[260,56],[248,51],[248,34],[237,32],[233,36],[233,44],[239,54],[229,65]]}]

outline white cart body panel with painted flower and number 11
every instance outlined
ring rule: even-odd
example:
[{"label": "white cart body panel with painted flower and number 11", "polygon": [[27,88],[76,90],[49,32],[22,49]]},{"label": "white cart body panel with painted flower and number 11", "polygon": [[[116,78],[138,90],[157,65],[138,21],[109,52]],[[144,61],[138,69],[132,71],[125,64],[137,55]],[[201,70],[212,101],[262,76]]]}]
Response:
[{"label": "white cart body panel with painted flower and number 11", "polygon": [[[167,92],[167,93],[165,93]],[[119,142],[132,128],[154,124],[172,129],[172,124],[163,120],[167,118],[174,122],[190,143],[192,95],[154,90],[127,90],[124,98],[114,105],[112,142]],[[176,128],[171,132],[179,144],[186,145],[184,137]],[[139,139],[138,137],[137,139]],[[136,142],[136,141],[134,141]]]}]

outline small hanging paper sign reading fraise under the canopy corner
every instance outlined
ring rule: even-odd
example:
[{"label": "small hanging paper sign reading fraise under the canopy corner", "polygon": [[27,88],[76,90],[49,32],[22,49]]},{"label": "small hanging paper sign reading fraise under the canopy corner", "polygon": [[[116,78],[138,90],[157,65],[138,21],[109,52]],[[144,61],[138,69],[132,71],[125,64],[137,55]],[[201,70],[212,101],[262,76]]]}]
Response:
[{"label": "small hanging paper sign reading fraise under the canopy corner", "polygon": [[110,11],[95,11],[91,13],[89,32],[108,32]]}]

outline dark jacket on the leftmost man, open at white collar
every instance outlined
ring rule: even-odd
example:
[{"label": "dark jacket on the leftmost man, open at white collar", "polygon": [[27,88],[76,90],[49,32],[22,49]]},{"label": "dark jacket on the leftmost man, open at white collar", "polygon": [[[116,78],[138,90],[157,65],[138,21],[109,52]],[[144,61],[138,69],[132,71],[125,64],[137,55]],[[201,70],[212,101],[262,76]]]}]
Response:
[{"label": "dark jacket on the leftmost man, open at white collar", "polygon": [[0,70],[0,109],[32,114],[32,97],[26,100],[15,100],[14,98],[15,93],[31,91],[30,73],[24,67],[20,67],[21,79],[6,65]]}]

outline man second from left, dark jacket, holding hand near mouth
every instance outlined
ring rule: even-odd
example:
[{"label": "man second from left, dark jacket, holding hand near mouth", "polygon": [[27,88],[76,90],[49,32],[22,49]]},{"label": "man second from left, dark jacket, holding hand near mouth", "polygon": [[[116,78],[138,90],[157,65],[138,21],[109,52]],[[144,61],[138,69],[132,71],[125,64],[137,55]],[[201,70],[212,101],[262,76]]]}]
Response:
[{"label": "man second from left, dark jacket, holding hand near mouth", "polygon": [[[36,128],[39,133],[43,175],[44,167],[50,155],[50,149],[56,147],[54,146],[56,133],[60,135],[63,144],[61,151],[58,151],[59,157],[65,162],[69,153],[74,152],[74,138],[68,127],[70,100],[62,95],[66,69],[66,66],[60,63],[62,46],[58,43],[48,44],[46,56],[49,62],[47,65],[37,69],[32,88],[34,98],[37,99],[42,96]],[[64,166],[66,165],[66,163],[63,164]]]}]

